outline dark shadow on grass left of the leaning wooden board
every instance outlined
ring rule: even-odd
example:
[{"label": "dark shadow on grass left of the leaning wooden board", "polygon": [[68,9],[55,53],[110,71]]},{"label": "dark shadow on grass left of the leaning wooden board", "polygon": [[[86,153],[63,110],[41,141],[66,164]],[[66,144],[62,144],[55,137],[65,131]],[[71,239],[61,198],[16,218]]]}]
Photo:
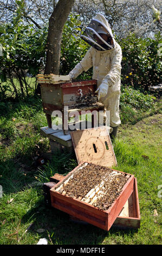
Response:
[{"label": "dark shadow on grass left of the leaning wooden board", "polygon": [[[33,148],[29,147],[28,150],[30,154],[19,153],[14,158],[0,161],[0,185],[3,193],[17,193],[24,188],[41,186],[43,182],[48,182],[50,176],[55,173],[65,175],[77,166],[74,153],[61,153],[60,151],[51,154],[51,160],[44,157],[46,164],[43,166],[37,165],[37,161],[34,161],[31,156]],[[44,154],[48,155],[48,153]],[[41,151],[39,157],[41,157]]]}]

